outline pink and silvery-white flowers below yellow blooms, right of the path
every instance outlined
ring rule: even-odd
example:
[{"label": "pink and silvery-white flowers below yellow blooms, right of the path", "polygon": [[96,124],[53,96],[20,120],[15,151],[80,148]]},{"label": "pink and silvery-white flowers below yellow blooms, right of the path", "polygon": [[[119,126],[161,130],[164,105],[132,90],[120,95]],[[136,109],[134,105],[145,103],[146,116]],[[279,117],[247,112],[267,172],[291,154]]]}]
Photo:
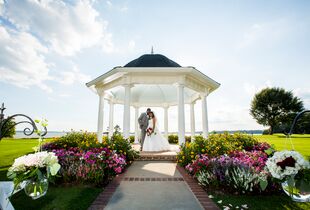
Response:
[{"label": "pink and silvery-white flowers below yellow blooms, right of the path", "polygon": [[[268,155],[262,151],[233,151],[229,155],[199,155],[185,169],[203,186],[238,193],[266,191],[271,177],[265,170]],[[268,185],[267,191],[276,189]]]}]

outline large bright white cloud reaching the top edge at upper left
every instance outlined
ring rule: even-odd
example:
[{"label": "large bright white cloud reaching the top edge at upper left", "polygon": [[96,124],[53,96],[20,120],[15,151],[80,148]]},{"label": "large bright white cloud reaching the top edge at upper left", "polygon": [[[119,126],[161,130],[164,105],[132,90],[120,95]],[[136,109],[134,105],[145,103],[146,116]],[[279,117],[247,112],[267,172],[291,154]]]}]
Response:
[{"label": "large bright white cloud reaching the top edge at upper left", "polygon": [[111,52],[107,22],[89,1],[18,1],[5,5],[3,16],[21,31],[31,31],[56,53],[71,56],[83,48],[101,46]]}]

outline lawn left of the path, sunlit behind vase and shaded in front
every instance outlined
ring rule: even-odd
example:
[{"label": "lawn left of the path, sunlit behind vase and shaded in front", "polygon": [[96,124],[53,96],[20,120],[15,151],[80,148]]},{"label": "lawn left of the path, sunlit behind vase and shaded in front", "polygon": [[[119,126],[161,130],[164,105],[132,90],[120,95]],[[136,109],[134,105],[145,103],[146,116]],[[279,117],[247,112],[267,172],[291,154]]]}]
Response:
[{"label": "lawn left of the path, sunlit behind vase and shaded in front", "polygon": [[[8,180],[6,173],[15,158],[33,152],[37,139],[3,139],[0,141],[0,181]],[[46,196],[38,200],[27,197],[20,191],[12,197],[15,209],[87,209],[101,188],[89,186],[50,186]]]}]

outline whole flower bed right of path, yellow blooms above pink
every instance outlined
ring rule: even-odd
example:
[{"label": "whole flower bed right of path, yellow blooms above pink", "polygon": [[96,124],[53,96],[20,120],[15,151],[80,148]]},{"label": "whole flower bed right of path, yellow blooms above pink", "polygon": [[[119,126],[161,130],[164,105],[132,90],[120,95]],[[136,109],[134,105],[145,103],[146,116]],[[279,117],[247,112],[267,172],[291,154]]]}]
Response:
[{"label": "whole flower bed right of path, yellow blooms above pink", "polygon": [[[196,137],[181,147],[178,163],[206,190],[227,195],[284,195],[266,165],[275,150],[246,134]],[[289,197],[288,197],[289,199]]]}]

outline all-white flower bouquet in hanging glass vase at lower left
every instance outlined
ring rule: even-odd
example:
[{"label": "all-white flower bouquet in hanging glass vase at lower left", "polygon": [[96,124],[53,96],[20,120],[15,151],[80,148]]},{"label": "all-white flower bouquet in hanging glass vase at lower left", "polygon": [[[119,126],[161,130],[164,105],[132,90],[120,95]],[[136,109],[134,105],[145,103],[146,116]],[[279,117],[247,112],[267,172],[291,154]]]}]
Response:
[{"label": "all-white flower bouquet in hanging glass vase at lower left", "polygon": [[59,169],[55,153],[44,151],[16,158],[7,176],[13,179],[14,190],[24,188],[28,196],[37,199],[46,194],[48,178],[55,176]]}]

